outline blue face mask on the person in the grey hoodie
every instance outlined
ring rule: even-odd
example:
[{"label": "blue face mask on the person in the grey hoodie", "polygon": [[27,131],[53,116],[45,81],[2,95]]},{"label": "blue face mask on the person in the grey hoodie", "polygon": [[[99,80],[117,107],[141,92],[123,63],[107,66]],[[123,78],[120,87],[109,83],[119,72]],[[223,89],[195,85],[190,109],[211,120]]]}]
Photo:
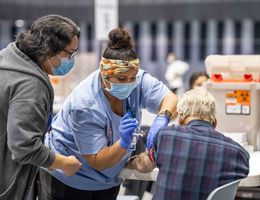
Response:
[{"label": "blue face mask on the person in the grey hoodie", "polygon": [[[59,56],[58,56],[59,57]],[[60,58],[60,57],[59,57]],[[54,76],[63,76],[72,69],[74,65],[74,58],[60,58],[61,64],[59,67],[52,67],[52,72]]]}]

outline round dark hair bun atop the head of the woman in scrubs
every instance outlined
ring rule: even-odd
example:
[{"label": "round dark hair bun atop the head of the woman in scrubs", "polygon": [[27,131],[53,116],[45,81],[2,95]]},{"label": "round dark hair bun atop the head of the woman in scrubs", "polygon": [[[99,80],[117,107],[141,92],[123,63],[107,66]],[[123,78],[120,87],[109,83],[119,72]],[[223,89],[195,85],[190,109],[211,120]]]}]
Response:
[{"label": "round dark hair bun atop the head of the woman in scrubs", "polygon": [[130,33],[124,28],[116,28],[110,31],[108,39],[107,47],[114,50],[132,49],[134,46]]}]

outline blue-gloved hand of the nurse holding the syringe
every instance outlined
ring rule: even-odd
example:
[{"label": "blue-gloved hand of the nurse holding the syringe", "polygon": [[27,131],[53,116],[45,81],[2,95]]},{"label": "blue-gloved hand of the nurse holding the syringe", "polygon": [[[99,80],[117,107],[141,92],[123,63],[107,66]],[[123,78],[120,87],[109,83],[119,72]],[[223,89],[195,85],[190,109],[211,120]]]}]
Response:
[{"label": "blue-gloved hand of the nurse holding the syringe", "polygon": [[135,118],[130,118],[130,113],[127,112],[121,119],[119,125],[119,132],[121,134],[121,138],[119,144],[122,148],[128,149],[132,140],[133,133],[137,128],[137,120]]}]

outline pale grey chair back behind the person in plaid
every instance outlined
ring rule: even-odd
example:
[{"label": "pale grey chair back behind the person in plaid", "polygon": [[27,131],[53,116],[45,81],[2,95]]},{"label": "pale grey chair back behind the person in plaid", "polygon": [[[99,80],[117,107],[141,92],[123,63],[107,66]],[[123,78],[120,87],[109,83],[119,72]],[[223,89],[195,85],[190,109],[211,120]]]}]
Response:
[{"label": "pale grey chair back behind the person in plaid", "polygon": [[216,188],[210,193],[207,200],[234,200],[241,180],[239,179]]}]

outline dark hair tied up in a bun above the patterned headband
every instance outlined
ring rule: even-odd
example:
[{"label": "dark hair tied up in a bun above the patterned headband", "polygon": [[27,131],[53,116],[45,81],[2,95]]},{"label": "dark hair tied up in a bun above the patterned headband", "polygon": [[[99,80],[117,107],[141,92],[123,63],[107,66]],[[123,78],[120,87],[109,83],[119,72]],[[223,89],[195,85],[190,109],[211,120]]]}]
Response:
[{"label": "dark hair tied up in a bun above the patterned headband", "polygon": [[108,39],[109,41],[103,53],[104,58],[126,61],[137,58],[132,37],[127,29],[123,27],[113,29],[108,34]]}]

